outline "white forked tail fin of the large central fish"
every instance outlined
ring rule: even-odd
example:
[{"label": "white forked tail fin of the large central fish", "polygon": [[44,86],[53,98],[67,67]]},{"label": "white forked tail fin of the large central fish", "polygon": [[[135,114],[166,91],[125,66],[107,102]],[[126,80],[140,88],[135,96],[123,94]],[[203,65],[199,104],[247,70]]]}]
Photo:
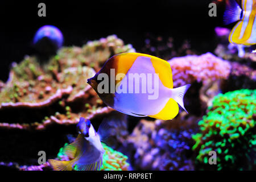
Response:
[{"label": "white forked tail fin of the large central fish", "polygon": [[177,102],[177,104],[179,104],[187,113],[188,111],[185,109],[184,107],[184,103],[183,103],[183,97],[185,95],[185,93],[187,92],[188,88],[189,88],[190,84],[184,85],[184,86],[180,86],[178,88],[175,89],[171,89],[172,90],[172,98]]}]

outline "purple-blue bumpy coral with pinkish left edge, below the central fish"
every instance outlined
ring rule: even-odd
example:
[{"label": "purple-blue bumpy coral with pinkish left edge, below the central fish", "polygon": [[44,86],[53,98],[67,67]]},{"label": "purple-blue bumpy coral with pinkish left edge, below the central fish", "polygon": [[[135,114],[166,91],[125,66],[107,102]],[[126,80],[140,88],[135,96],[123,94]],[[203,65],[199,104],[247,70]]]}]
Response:
[{"label": "purple-blue bumpy coral with pinkish left edge, below the central fish", "polygon": [[134,169],[193,170],[193,140],[199,118],[181,113],[172,121],[141,120],[123,145]]}]

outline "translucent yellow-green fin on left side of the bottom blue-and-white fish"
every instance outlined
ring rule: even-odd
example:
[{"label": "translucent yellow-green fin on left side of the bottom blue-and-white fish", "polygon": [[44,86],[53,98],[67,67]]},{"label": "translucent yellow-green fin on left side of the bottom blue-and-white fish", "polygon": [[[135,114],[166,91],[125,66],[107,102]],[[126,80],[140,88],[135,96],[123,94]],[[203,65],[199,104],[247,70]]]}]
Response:
[{"label": "translucent yellow-green fin on left side of the bottom blue-and-white fish", "polygon": [[82,134],[79,134],[76,138],[76,140],[71,143],[68,144],[67,146],[64,146],[63,148],[63,152],[64,154],[68,155],[69,158],[74,159],[76,158],[77,154],[79,154],[79,143],[81,142],[81,140],[83,139]]}]

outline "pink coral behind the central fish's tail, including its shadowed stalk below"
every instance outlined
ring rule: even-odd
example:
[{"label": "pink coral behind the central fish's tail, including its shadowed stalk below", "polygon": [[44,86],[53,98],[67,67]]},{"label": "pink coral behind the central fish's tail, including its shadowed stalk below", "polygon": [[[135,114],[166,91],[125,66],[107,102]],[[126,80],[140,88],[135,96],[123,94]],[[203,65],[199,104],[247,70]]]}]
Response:
[{"label": "pink coral behind the central fish's tail, including its shadowed stalk below", "polygon": [[220,92],[220,81],[228,78],[230,73],[228,61],[209,52],[201,56],[175,57],[168,62],[172,68],[174,88],[192,84],[186,94],[188,101],[185,106],[189,112],[199,115],[201,111],[204,113],[210,100]]}]

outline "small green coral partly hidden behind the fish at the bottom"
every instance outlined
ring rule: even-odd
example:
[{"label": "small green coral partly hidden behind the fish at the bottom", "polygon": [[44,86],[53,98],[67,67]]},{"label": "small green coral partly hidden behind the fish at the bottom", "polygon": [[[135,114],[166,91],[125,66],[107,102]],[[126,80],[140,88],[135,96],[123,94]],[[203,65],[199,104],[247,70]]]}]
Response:
[{"label": "small green coral partly hidden behind the fish at the bottom", "polygon": [[[68,143],[65,143],[66,146]],[[106,146],[105,143],[102,143],[102,146],[105,150],[103,155],[103,163],[101,171],[127,171],[129,163],[126,162],[128,157],[123,155],[121,152],[115,151],[112,148]],[[59,160],[68,160],[68,156],[64,154],[63,147],[60,148],[59,153],[57,154]],[[76,170],[76,166],[73,168]]]}]

